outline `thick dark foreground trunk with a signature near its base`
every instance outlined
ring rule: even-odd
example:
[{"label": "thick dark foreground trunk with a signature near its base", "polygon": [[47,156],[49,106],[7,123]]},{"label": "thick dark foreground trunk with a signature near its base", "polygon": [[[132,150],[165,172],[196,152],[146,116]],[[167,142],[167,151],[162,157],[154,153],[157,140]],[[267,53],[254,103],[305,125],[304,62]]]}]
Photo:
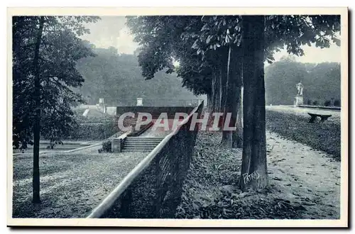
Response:
[{"label": "thick dark foreground trunk with a signature near its base", "polygon": [[243,16],[244,142],[242,190],[268,185],[266,165],[264,16]]}]

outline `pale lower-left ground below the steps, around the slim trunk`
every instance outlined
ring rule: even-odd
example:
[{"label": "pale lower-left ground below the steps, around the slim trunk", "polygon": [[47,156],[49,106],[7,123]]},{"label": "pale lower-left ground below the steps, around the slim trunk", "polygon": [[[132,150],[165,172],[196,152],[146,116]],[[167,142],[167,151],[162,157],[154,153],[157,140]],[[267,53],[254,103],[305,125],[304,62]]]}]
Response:
[{"label": "pale lower-left ground below the steps, around the slim trunk", "polygon": [[146,153],[98,153],[101,145],[40,155],[40,199],[33,205],[32,157],[13,157],[13,218],[84,218]]}]

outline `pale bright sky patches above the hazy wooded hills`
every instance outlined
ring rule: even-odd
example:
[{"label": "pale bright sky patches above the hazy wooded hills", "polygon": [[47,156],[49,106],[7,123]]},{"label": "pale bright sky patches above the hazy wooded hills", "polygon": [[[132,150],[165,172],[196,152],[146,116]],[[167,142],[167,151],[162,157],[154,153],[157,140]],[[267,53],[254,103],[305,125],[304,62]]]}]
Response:
[{"label": "pale bright sky patches above the hazy wooded hills", "polygon": [[[114,46],[119,53],[133,54],[138,44],[133,42],[133,35],[126,27],[126,18],[124,16],[102,16],[97,23],[87,23],[90,34],[82,35],[82,39],[89,40],[97,48],[109,48]],[[305,55],[296,56],[297,62],[341,62],[340,47],[332,45],[330,48],[316,48],[315,46],[302,46]],[[281,57],[287,56],[286,50],[275,53],[275,61]]]}]

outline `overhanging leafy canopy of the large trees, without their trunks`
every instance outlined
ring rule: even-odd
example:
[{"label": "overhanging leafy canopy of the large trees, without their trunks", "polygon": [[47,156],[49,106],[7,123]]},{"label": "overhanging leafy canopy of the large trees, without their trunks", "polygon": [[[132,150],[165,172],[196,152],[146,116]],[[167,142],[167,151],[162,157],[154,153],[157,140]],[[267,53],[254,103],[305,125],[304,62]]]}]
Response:
[{"label": "overhanging leafy canopy of the large trees, without their trunks", "polygon": [[[301,45],[328,48],[331,43],[339,45],[339,16],[265,16],[266,55],[273,62],[273,53],[286,45],[288,52],[303,55]],[[223,47],[241,44],[242,16],[130,16],[127,25],[141,45],[139,65],[143,77],[153,78],[155,72],[173,69],[173,59],[178,60],[178,71],[184,86],[199,89],[208,85],[212,75],[211,66],[219,62],[218,53]],[[197,60],[191,58],[195,51]],[[200,59],[200,61],[199,61]],[[202,60],[204,62],[202,62]],[[206,69],[207,68],[207,69]],[[194,84],[194,83],[197,84]],[[210,85],[210,84],[209,84]]]}]

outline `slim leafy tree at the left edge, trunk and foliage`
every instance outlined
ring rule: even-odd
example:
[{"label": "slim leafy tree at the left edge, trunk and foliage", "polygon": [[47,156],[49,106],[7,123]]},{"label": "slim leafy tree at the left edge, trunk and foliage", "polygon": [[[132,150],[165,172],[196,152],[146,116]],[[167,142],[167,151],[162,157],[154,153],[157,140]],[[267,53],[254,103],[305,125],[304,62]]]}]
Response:
[{"label": "slim leafy tree at the left edge, trunk and foliage", "polygon": [[82,23],[97,19],[13,17],[13,146],[26,148],[28,143],[33,144],[34,203],[40,202],[40,135],[60,140],[75,124],[70,105],[81,99],[70,87],[84,82],[75,62],[94,55],[77,35],[88,33]]}]

